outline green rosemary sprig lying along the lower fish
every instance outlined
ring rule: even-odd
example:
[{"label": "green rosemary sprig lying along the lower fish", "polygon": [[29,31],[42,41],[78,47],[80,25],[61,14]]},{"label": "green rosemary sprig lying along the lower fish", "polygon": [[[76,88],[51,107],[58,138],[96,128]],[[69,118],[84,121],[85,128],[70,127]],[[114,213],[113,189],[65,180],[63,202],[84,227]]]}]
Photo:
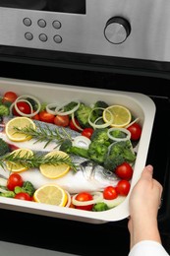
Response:
[{"label": "green rosemary sprig lying along the lower fish", "polygon": [[3,168],[5,167],[5,162],[7,161],[10,161],[14,164],[21,164],[27,168],[38,168],[40,164],[52,164],[54,166],[59,164],[68,164],[72,169],[77,170],[77,165],[70,159],[69,156],[43,156],[37,154],[30,156],[28,153],[26,153],[24,156],[21,156],[21,152],[19,151],[18,154],[11,153],[0,157],[0,165]]}]

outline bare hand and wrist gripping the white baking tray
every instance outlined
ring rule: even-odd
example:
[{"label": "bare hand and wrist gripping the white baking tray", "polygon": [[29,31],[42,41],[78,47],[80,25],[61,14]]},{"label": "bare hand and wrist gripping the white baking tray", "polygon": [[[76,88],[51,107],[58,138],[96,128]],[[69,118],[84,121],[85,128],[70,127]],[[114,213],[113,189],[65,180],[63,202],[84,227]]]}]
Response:
[{"label": "bare hand and wrist gripping the white baking tray", "polygon": [[153,167],[147,165],[130,196],[131,248],[139,241],[154,240],[161,243],[157,213],[161,201],[162,186],[153,179]]}]

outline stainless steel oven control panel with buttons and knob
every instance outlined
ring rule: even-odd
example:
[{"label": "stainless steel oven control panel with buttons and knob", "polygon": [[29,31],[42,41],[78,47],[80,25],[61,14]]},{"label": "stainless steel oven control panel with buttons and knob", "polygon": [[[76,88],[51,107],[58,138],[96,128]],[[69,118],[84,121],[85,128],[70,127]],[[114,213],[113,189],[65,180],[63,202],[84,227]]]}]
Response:
[{"label": "stainless steel oven control panel with buttons and knob", "polygon": [[170,61],[169,0],[85,1],[85,15],[0,7],[0,44]]}]

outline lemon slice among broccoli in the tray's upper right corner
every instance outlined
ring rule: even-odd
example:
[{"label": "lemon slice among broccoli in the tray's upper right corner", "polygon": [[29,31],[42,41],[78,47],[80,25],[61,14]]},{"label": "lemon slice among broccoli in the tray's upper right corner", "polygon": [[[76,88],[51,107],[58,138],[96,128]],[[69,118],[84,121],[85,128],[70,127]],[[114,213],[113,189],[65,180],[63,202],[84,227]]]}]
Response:
[{"label": "lemon slice among broccoli in the tray's upper right corner", "polygon": [[113,122],[111,127],[126,127],[132,119],[132,114],[130,110],[123,105],[110,105],[103,111],[104,122],[109,122],[111,119],[111,114],[113,117]]}]

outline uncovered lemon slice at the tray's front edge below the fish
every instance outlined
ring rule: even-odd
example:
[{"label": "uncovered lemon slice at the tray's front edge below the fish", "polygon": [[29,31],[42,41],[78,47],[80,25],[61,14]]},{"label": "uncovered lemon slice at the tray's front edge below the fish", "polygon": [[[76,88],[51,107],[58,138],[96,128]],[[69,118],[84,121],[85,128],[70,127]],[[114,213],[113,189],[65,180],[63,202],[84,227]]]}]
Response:
[{"label": "uncovered lemon slice at the tray's front edge below the fish", "polygon": [[55,206],[66,206],[68,201],[67,193],[56,184],[46,184],[39,187],[33,194],[37,203],[44,203]]}]

